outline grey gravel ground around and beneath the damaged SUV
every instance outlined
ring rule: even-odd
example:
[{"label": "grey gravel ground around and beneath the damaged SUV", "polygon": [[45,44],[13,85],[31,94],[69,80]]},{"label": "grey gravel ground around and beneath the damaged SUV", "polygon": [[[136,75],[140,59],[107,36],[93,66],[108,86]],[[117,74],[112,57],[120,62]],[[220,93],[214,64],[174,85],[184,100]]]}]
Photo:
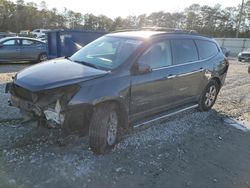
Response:
[{"label": "grey gravel ground around and beneath the damaged SUV", "polygon": [[88,138],[22,123],[7,106],[4,84],[26,66],[0,66],[0,187],[250,187],[250,133],[225,121],[250,120],[247,64],[231,62],[210,112],[155,122],[104,156]]}]

